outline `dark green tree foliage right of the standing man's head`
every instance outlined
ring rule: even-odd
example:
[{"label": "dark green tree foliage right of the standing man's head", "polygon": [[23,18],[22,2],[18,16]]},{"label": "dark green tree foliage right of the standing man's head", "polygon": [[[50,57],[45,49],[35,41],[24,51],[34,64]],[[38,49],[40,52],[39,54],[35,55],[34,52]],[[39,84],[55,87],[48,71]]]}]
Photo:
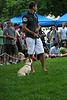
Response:
[{"label": "dark green tree foliage right of the standing man's head", "polygon": [[38,0],[38,13],[41,15],[62,16],[67,13],[66,0]]}]

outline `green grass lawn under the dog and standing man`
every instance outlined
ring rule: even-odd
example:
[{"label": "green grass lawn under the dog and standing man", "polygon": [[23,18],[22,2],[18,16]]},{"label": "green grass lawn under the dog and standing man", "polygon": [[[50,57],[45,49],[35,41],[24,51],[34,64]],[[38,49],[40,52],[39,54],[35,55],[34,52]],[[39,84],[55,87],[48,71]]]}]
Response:
[{"label": "green grass lawn under the dog and standing man", "polygon": [[67,57],[34,62],[36,73],[18,77],[25,63],[0,66],[0,100],[67,100]]}]

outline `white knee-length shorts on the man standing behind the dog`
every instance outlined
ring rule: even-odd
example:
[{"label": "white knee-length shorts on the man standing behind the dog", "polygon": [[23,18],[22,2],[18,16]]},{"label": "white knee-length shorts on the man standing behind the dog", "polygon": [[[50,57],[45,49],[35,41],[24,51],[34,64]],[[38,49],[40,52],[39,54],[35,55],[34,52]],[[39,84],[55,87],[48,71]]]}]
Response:
[{"label": "white knee-length shorts on the man standing behind the dog", "polygon": [[29,55],[33,55],[34,52],[36,52],[36,54],[44,53],[43,43],[40,38],[33,39],[30,37],[27,37],[26,43],[27,43]]}]

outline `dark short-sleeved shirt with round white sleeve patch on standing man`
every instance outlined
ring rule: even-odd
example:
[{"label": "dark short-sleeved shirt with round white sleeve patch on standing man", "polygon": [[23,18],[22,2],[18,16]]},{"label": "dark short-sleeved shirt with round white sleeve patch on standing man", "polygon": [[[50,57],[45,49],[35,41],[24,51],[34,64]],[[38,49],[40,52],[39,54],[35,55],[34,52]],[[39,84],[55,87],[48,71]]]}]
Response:
[{"label": "dark short-sleeved shirt with round white sleeve patch on standing man", "polygon": [[[38,27],[38,17],[37,15],[34,13],[30,13],[29,11],[23,16],[22,18],[23,23],[27,24],[27,28],[33,32],[35,32],[36,28]],[[31,37],[34,38],[34,36],[28,32],[26,32],[26,37]]]}]

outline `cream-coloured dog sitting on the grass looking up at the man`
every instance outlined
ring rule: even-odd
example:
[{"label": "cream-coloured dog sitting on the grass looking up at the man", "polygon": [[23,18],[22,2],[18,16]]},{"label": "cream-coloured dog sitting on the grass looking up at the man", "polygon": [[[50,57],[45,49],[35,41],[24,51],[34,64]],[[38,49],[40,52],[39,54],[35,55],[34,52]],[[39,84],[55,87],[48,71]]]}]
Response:
[{"label": "cream-coloured dog sitting on the grass looking up at the man", "polygon": [[26,76],[29,75],[31,71],[31,64],[32,64],[32,59],[27,59],[26,64],[18,71],[18,76]]}]

